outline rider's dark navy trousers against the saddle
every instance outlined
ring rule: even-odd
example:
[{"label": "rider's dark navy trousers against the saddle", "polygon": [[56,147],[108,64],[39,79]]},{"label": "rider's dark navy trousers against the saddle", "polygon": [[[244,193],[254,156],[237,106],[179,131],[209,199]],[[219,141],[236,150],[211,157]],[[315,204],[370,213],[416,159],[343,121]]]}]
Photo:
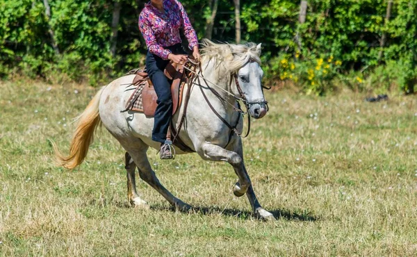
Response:
[{"label": "rider's dark navy trousers against the saddle", "polygon": [[[173,54],[186,54],[181,44],[174,44],[171,47],[165,47],[165,49],[170,50]],[[172,117],[171,81],[168,81],[168,78],[163,74],[163,70],[168,63],[170,63],[170,60],[163,60],[163,58],[148,51],[146,69],[158,96],[152,140],[162,143],[167,138],[167,131]]]}]

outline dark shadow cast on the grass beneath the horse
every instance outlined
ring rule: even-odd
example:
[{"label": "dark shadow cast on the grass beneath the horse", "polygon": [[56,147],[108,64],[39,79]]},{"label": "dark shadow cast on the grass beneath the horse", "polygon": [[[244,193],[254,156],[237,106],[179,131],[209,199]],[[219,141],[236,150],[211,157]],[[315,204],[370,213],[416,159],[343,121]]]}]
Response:
[{"label": "dark shadow cast on the grass beneath the horse", "polygon": [[[247,210],[237,210],[232,208],[220,208],[218,206],[193,206],[191,210],[178,210],[177,208],[170,207],[170,206],[161,206],[155,205],[151,206],[151,210],[170,210],[172,212],[180,211],[181,213],[197,213],[202,215],[223,215],[227,217],[237,217],[239,219],[253,219],[254,215],[252,212]],[[293,212],[289,210],[268,210],[272,215],[274,215],[275,219],[288,219],[288,220],[298,220],[302,222],[315,222],[320,220],[319,217],[311,215],[311,213],[300,210],[300,212]]]}]

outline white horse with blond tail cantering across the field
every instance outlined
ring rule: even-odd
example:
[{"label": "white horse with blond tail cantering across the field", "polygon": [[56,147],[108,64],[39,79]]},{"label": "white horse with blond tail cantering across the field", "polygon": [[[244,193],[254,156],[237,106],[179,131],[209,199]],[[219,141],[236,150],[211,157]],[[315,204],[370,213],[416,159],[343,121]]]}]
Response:
[{"label": "white horse with blond tail cantering across the field", "polygon": [[[243,129],[241,114],[236,112],[236,99],[246,100],[248,113],[255,119],[263,117],[268,111],[261,85],[263,71],[260,54],[261,44],[215,44],[209,40],[204,41],[201,71],[204,78],[200,77],[191,85],[190,100],[179,138],[204,160],[230,163],[238,176],[234,194],[237,197],[247,194],[256,217],[274,219],[272,213],[264,210],[256,199],[243,163],[242,140],[230,129],[230,126],[236,127],[237,131]],[[126,153],[128,197],[131,204],[147,205],[136,192],[135,169],[138,167],[140,178],[162,194],[172,206],[189,210],[191,206],[174,197],[161,185],[149,164],[147,149],[159,149],[160,146],[159,142],[151,139],[154,119],[133,111],[122,113],[131,94],[131,90],[126,90],[126,84],[132,83],[133,78],[134,75],[117,78],[97,92],[77,118],[69,156],[59,154],[56,149],[58,162],[69,169],[80,165],[92,143],[95,128],[102,122],[131,156],[129,160]],[[183,105],[172,117],[173,124],[179,123],[181,113]],[[177,154],[186,154],[180,149],[175,150]]]}]

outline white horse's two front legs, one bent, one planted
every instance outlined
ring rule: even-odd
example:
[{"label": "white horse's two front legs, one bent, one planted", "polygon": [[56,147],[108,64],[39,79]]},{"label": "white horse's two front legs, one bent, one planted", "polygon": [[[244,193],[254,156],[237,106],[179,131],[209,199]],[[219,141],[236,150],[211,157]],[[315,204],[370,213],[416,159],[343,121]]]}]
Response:
[{"label": "white horse's two front legs, one bent, one planted", "polygon": [[230,165],[234,167],[234,171],[236,172],[236,175],[238,175],[239,181],[236,185],[234,185],[233,192],[236,197],[241,197],[246,193],[256,217],[260,217],[262,219],[275,219],[272,213],[269,213],[262,208],[256,198],[249,174],[247,174],[245,168],[245,163],[243,163],[243,149],[240,140],[238,140],[235,151],[228,151],[218,145],[210,143],[204,144],[202,146],[202,150],[205,158],[210,160],[227,161],[227,163],[230,163]]}]

